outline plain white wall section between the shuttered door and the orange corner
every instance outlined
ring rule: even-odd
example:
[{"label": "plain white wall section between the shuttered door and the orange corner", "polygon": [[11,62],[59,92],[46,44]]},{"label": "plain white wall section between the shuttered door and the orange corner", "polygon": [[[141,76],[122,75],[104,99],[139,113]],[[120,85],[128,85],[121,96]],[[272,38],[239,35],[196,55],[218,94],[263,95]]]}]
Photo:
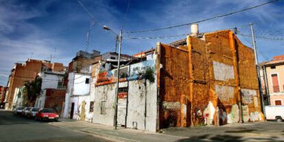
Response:
[{"label": "plain white wall section between the shuttered door and the orange corner", "polygon": [[130,81],[126,127],[156,132],[157,106],[156,81]]}]

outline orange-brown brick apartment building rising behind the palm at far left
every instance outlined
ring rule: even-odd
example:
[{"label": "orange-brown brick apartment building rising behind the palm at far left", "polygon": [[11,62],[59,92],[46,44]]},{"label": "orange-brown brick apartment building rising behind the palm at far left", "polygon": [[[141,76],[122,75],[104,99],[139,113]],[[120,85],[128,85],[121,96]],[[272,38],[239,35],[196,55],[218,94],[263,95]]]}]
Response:
[{"label": "orange-brown brick apartment building rising behind the palm at far left", "polygon": [[34,81],[37,74],[42,70],[60,72],[63,71],[64,68],[62,63],[50,63],[49,61],[36,59],[27,59],[25,63],[15,63],[8,80],[9,90],[5,99],[5,109],[12,109],[12,101],[16,87],[22,87],[27,81]]}]

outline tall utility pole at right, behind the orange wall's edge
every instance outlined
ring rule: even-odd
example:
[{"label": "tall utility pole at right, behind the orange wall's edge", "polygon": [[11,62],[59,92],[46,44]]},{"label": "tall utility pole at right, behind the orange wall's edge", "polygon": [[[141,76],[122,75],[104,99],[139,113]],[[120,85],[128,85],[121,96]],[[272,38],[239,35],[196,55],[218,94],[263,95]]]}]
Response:
[{"label": "tall utility pole at right, behind the orange wall's edge", "polygon": [[262,91],[261,91],[261,78],[260,78],[260,72],[259,72],[259,59],[257,57],[257,46],[255,44],[255,31],[253,30],[252,23],[250,23],[250,31],[252,32],[252,46],[253,46],[253,49],[255,51],[255,64],[257,65],[257,79],[259,81],[259,94],[261,96],[261,107],[262,107],[263,115],[265,116],[263,94],[262,94]]}]

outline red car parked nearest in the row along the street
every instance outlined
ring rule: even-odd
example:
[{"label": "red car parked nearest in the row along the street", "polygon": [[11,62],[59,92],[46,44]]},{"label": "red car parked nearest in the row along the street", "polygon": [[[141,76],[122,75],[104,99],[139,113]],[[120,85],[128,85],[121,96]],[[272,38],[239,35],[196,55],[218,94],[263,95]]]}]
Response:
[{"label": "red car parked nearest in the row along the street", "polygon": [[58,121],[59,115],[56,113],[54,109],[51,108],[43,108],[38,110],[36,113],[36,120],[44,121],[44,120],[55,120]]}]

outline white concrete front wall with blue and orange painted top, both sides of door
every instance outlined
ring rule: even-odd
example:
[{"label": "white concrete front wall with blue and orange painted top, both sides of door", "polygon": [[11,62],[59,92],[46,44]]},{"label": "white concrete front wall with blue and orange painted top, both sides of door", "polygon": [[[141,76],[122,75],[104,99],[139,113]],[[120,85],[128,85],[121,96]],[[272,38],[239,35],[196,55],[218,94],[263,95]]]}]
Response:
[{"label": "white concrete front wall with blue and orange painted top, both sides of door", "polygon": [[[126,128],[137,128],[139,130],[156,132],[158,125],[158,93],[154,66],[154,60],[131,64],[128,66],[128,78],[121,79],[121,83],[119,83],[119,88],[128,88]],[[154,77],[154,82],[150,82],[150,80],[147,79],[141,79],[139,74],[143,74],[147,68],[153,70],[152,75]],[[113,71],[108,72],[111,76],[106,75],[105,72],[106,71],[101,70],[101,75],[97,76],[99,79],[97,79],[98,82],[95,83],[95,88],[91,89],[91,94],[95,94],[93,122],[113,126],[116,95],[116,84],[113,80],[115,80],[115,75]],[[105,108],[103,108],[104,106]]]}]

